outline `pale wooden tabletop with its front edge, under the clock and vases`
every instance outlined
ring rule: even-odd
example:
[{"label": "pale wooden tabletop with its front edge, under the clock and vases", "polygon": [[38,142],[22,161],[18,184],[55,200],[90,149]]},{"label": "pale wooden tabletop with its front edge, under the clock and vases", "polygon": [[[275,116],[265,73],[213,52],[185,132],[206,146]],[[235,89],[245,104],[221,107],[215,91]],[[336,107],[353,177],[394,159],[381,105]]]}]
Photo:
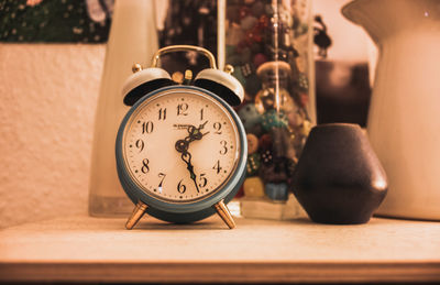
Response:
[{"label": "pale wooden tabletop with its front edge, under the clock and vases", "polygon": [[440,282],[440,222],[67,217],[0,231],[0,281]]}]

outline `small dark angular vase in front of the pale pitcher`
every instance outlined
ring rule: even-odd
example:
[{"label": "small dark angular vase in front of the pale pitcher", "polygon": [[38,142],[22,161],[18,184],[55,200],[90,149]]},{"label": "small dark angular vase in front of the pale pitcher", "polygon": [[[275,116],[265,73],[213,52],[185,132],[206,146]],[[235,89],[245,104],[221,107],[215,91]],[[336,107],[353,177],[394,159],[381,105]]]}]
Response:
[{"label": "small dark angular vase in front of the pale pitcher", "polygon": [[292,189],[315,222],[365,223],[387,191],[387,179],[358,124],[315,127],[295,169]]}]

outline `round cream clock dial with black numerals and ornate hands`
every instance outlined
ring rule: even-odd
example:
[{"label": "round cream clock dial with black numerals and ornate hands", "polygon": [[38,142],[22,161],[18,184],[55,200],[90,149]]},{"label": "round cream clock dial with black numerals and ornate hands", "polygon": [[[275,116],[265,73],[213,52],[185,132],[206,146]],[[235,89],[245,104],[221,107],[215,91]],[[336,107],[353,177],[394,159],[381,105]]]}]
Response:
[{"label": "round cream clock dial with black numerals and ornate hands", "polygon": [[143,101],[130,117],[122,155],[133,182],[174,204],[211,196],[228,183],[240,155],[238,128],[216,99],[176,88]]}]

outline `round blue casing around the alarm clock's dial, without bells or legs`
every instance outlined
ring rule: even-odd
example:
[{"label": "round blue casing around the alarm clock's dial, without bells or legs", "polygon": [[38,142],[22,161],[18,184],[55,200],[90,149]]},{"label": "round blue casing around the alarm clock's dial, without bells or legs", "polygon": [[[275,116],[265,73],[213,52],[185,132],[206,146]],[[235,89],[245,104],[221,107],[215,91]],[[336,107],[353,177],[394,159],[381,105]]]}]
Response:
[{"label": "round blue casing around the alarm clock's dial, without bells or legs", "polygon": [[[128,127],[128,122],[133,113],[136,112],[138,108],[140,108],[144,101],[154,99],[156,96],[166,96],[167,92],[202,92],[206,96],[209,96],[218,103],[220,103],[224,109],[230,113],[233,119],[233,123],[237,127],[238,138],[240,143],[240,153],[237,157],[237,166],[233,172],[228,177],[228,180],[222,184],[218,189],[216,189],[211,195],[207,197],[200,197],[194,201],[189,202],[169,202],[164,199],[160,199],[154,195],[147,194],[147,191],[143,190],[136,183],[135,179],[131,176],[131,172],[129,171],[125,164],[125,157],[123,153],[123,135],[125,128]],[[176,223],[187,223],[194,222],[201,219],[205,219],[213,213],[216,213],[216,208],[213,207],[217,202],[223,200],[226,204],[229,202],[238,193],[241,187],[244,178],[245,178],[245,167],[246,167],[246,157],[248,157],[248,141],[244,127],[239,119],[239,116],[232,109],[232,107],[226,102],[222,98],[217,96],[216,94],[196,86],[168,86],[162,87],[154,91],[151,91],[144,95],[141,99],[139,99],[129,110],[129,112],[123,118],[121,125],[118,131],[117,141],[116,141],[116,160],[117,160],[117,171],[122,188],[129,196],[129,198],[133,201],[133,204],[138,204],[142,201],[146,204],[148,207],[146,209],[146,213],[169,222]],[[172,174],[170,174],[172,175]]]}]

